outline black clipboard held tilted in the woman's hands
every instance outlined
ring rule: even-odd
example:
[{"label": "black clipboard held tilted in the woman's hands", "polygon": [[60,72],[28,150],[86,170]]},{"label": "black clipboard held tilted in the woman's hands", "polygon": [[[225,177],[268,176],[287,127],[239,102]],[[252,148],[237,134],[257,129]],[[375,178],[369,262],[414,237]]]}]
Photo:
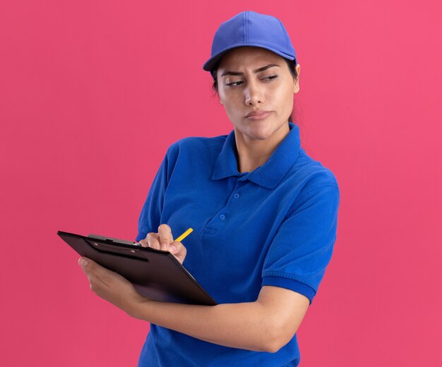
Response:
[{"label": "black clipboard held tilted in the woman's hands", "polygon": [[57,235],[81,256],[124,276],[138,293],[156,301],[215,306],[217,303],[169,251],[100,235]]}]

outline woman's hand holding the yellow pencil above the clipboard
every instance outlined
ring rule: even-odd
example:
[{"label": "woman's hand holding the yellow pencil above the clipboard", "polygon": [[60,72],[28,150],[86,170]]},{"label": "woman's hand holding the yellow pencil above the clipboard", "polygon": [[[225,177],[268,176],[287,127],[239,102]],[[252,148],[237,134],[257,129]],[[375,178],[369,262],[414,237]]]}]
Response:
[{"label": "woman's hand holding the yellow pencil above the clipboard", "polygon": [[181,264],[186,258],[186,247],[181,242],[174,241],[172,230],[167,224],[160,225],[157,233],[148,233],[145,239],[140,241],[140,244],[143,247],[169,251]]}]

